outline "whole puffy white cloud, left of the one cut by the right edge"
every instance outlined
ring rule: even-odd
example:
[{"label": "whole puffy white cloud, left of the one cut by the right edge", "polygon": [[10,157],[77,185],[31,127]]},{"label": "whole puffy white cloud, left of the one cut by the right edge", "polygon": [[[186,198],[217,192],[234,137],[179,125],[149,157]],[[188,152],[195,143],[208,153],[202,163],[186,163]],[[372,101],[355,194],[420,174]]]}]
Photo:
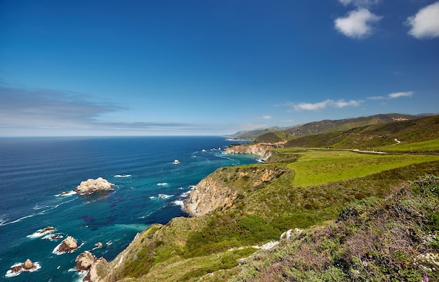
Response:
[{"label": "whole puffy white cloud, left of the one cut by the right edge", "polygon": [[346,17],[335,19],[335,28],[348,37],[364,38],[372,34],[372,24],[379,22],[381,18],[366,8],[358,8],[351,10]]}]

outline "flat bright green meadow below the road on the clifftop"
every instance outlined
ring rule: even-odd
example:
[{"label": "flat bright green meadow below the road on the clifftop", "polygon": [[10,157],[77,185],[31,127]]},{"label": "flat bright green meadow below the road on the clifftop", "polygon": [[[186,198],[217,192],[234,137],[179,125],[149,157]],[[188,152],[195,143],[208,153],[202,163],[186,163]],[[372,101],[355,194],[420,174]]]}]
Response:
[{"label": "flat bright green meadow below the road on the clifftop", "polygon": [[379,171],[439,160],[433,155],[369,155],[348,150],[307,150],[288,164],[295,171],[295,186],[311,186],[358,178]]}]

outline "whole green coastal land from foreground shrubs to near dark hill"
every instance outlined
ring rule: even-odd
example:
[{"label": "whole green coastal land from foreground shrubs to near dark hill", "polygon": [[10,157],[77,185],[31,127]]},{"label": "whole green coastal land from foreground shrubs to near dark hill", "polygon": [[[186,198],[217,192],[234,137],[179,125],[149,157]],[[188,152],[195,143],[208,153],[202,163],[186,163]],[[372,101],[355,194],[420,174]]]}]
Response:
[{"label": "whole green coastal land from foreground shrubs to near dark hill", "polygon": [[[106,281],[437,280],[428,269],[439,263],[439,155],[431,149],[438,124],[435,116],[306,136],[274,149],[266,164],[217,169],[210,178],[234,190],[233,204],[152,225],[98,274]],[[292,148],[388,140],[381,148],[411,144],[417,154]],[[275,177],[264,181],[266,171]]]}]

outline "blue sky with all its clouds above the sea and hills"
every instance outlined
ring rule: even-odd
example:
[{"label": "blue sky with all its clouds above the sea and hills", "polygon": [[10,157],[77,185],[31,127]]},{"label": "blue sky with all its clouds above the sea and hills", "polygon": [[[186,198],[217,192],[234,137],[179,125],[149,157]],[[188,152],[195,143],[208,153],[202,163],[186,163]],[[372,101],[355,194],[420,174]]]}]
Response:
[{"label": "blue sky with all its clouds above the sea and hills", "polygon": [[0,136],[438,109],[439,1],[0,0]]}]

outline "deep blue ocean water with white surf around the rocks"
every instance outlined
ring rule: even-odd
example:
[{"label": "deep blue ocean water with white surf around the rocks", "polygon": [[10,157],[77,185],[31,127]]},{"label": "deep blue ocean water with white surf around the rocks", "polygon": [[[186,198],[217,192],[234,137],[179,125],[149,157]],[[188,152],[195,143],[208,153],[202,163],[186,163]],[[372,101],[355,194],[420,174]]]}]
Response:
[{"label": "deep blue ocean water with white surf around the rocks", "polygon": [[[224,155],[231,143],[239,142],[221,136],[0,139],[0,281],[81,280],[74,269],[80,253],[113,260],[137,232],[187,216],[182,201],[215,169],[257,162],[254,155]],[[115,189],[59,196],[98,177]],[[48,226],[56,230],[39,236]],[[67,236],[79,249],[53,253]],[[7,274],[28,258],[40,268]]]}]

